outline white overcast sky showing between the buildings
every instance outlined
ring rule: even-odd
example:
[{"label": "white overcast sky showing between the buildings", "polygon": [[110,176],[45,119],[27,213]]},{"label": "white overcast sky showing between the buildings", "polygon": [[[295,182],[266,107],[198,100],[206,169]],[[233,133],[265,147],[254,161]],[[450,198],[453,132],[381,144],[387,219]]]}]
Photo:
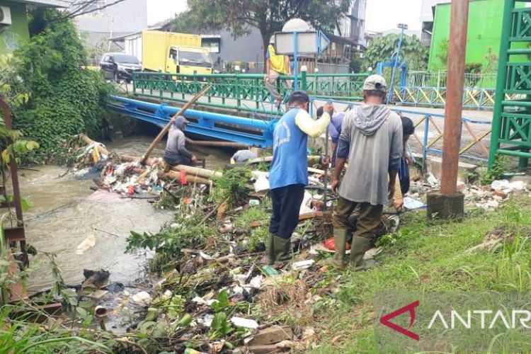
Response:
[{"label": "white overcast sky showing between the buildings", "polygon": [[[365,30],[382,31],[407,23],[410,30],[421,29],[422,0],[367,0]],[[186,9],[186,0],[147,0],[147,23],[153,25]]]}]

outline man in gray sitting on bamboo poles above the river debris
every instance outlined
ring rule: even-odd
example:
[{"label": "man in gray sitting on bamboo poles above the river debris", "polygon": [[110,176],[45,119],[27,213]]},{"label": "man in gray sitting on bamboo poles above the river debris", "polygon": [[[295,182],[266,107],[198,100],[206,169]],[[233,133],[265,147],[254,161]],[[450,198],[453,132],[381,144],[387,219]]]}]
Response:
[{"label": "man in gray sitting on bamboo poles above the river debris", "polygon": [[168,132],[168,142],[166,142],[166,149],[164,149],[164,162],[169,166],[188,165],[194,166],[198,158],[190,154],[185,148],[186,138],[184,130],[188,125],[188,120],[182,115],[177,118],[172,118],[173,125]]}]

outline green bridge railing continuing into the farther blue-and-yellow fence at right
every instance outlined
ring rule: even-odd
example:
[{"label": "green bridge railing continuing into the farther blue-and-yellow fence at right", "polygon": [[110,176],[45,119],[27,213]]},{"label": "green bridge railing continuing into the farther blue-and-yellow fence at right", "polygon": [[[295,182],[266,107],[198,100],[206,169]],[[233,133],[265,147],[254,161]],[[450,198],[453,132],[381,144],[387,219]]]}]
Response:
[{"label": "green bridge railing continuing into the farther blue-and-yellow fence at right", "polygon": [[[384,76],[386,73],[383,73]],[[308,74],[302,72],[298,79],[300,88],[315,97],[343,101],[362,101],[363,81],[368,74]],[[389,75],[387,75],[389,76]],[[467,74],[463,93],[463,107],[491,110],[496,100],[496,79],[491,74]],[[286,99],[295,76],[282,75],[277,86]],[[241,112],[278,115],[271,103],[262,74],[210,74],[184,75],[156,72],[135,72],[132,93],[150,100],[186,102],[200,91],[202,84],[211,89],[198,101],[212,108]],[[507,98],[515,98],[507,93]],[[444,73],[411,72],[393,86],[392,103],[423,108],[443,108],[446,103]]]}]

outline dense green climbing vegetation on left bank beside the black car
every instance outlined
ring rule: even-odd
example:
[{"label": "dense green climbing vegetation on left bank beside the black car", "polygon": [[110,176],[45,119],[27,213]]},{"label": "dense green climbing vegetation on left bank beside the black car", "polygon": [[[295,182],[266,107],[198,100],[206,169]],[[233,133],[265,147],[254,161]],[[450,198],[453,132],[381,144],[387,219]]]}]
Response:
[{"label": "dense green climbing vegetation on left bank beside the black car", "polygon": [[16,73],[13,89],[29,95],[14,109],[15,123],[40,144],[43,156],[61,154],[60,143],[80,132],[101,137],[111,86],[84,68],[86,52],[76,28],[57,20],[57,11],[42,8],[32,13],[29,27],[29,42],[9,63]]}]

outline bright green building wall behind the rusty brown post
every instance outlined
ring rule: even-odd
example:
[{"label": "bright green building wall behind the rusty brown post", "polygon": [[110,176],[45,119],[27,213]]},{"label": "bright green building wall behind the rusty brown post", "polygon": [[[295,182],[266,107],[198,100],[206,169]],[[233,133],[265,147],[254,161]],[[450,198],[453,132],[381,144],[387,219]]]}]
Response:
[{"label": "bright green building wall behind the rusty brown post", "polygon": [[[481,62],[484,69],[488,60],[485,58],[492,48],[492,53],[500,54],[501,21],[503,17],[503,0],[472,0],[470,1],[469,23],[467,35],[466,62]],[[450,36],[450,4],[440,4],[435,8],[433,37],[431,39],[428,69],[436,71],[445,69],[437,57],[441,44]]]}]

